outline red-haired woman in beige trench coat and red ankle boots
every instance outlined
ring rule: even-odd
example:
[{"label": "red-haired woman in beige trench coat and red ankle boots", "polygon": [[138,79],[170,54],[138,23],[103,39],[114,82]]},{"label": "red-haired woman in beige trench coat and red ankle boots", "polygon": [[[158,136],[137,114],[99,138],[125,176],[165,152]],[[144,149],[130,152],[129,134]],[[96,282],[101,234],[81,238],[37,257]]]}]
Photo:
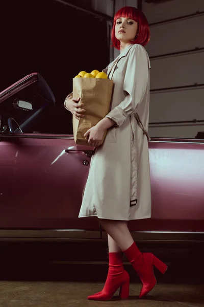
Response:
[{"label": "red-haired woman in beige trench coat and red ankle boots", "polygon": [[[120,298],[129,297],[129,274],[122,252],[142,281],[139,297],[154,288],[153,267],[163,274],[167,266],[151,253],[141,253],[127,221],[151,216],[148,156],[149,69],[143,48],[149,41],[146,17],[134,7],[120,9],[114,17],[113,46],[120,55],[104,70],[114,81],[110,113],[84,135],[97,147],[92,157],[79,217],[97,216],[108,233],[109,271],[103,290],[88,297],[110,300],[120,288]],[[68,98],[73,116],[84,116],[82,104]],[[79,101],[79,100],[78,100]],[[107,136],[102,144],[104,133]]]}]

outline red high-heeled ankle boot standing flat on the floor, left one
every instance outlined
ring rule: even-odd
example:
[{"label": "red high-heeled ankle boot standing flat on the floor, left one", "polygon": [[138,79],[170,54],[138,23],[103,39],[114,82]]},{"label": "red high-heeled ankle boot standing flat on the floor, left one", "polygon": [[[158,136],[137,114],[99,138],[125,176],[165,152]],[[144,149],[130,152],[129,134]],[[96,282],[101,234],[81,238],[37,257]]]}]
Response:
[{"label": "red high-heeled ankle boot standing flat on the floor, left one", "polygon": [[109,253],[109,271],[102,291],[88,296],[90,300],[106,301],[112,299],[120,288],[119,297],[129,297],[130,276],[123,268],[122,253]]}]

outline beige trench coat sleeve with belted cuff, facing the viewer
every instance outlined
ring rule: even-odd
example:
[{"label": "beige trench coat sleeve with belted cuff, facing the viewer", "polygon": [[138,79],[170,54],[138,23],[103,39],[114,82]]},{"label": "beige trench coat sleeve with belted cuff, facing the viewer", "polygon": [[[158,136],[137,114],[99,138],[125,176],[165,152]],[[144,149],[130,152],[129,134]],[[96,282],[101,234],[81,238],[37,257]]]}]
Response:
[{"label": "beige trench coat sleeve with belted cuff, facing the viewer", "polygon": [[127,61],[123,91],[125,99],[114,107],[106,117],[121,126],[126,118],[133,113],[142,101],[148,83],[149,60],[141,45],[132,48]]}]

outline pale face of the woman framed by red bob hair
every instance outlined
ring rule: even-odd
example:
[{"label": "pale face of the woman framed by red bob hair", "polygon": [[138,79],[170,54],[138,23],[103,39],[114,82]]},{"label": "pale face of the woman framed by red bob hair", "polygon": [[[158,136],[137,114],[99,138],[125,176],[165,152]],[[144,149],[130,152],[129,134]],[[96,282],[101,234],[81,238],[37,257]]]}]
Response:
[{"label": "pale face of the woman framed by red bob hair", "polygon": [[137,29],[137,21],[131,18],[120,17],[116,20],[115,36],[122,42],[129,42],[130,40],[135,40]]}]

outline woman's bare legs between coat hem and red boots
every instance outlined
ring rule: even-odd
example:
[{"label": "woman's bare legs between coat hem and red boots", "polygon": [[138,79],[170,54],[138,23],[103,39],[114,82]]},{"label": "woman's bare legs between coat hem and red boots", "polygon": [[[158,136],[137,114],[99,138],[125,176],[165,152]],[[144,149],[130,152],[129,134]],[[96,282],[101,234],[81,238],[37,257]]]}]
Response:
[{"label": "woman's bare legs between coat hem and red boots", "polygon": [[[109,243],[112,252],[114,249],[117,249],[117,246],[122,250],[128,249],[133,243],[133,237],[127,227],[126,221],[116,221],[116,220],[104,220],[99,219],[101,226],[106,230],[109,234]],[[109,252],[111,252],[109,250]]]}]

